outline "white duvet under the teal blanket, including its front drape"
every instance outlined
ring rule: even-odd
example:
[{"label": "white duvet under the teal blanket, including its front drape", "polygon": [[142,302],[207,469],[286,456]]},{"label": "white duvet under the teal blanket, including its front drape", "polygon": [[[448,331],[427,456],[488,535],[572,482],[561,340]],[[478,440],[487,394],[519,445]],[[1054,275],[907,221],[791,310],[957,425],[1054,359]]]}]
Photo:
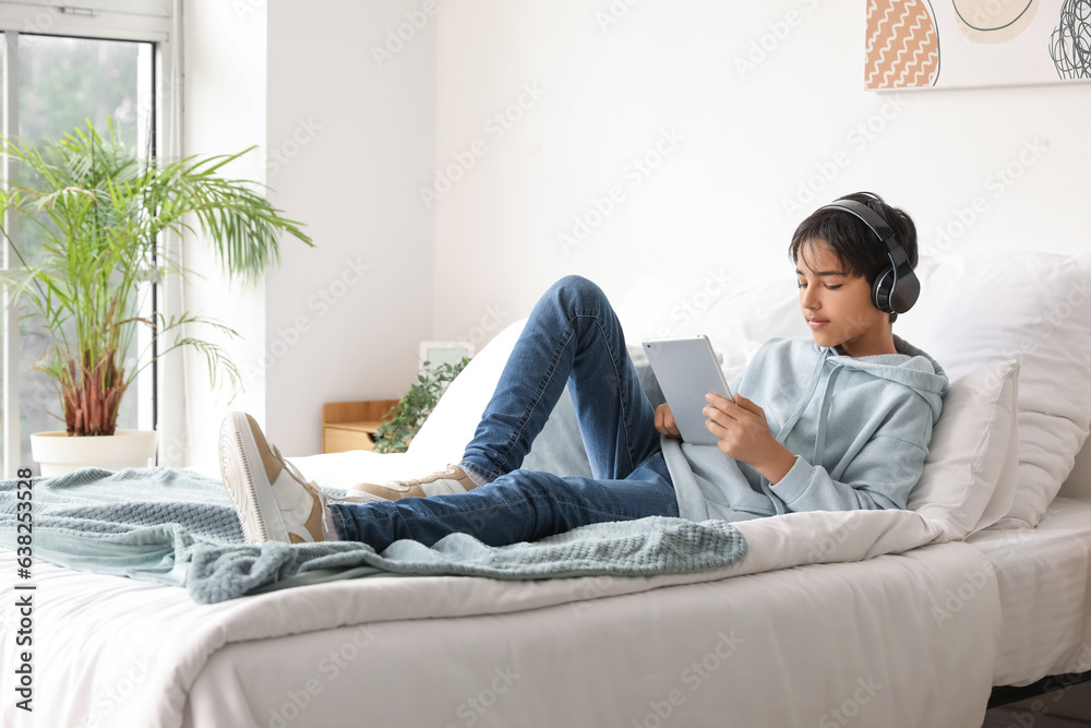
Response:
[{"label": "white duvet under the teal blanket, including its front drape", "polygon": [[[35,565],[34,713],[4,726],[980,726],[995,580],[911,511],[738,524],[728,569],[380,576],[200,606]],[[923,547],[923,548],[916,548]],[[4,684],[14,559],[0,551]]]}]

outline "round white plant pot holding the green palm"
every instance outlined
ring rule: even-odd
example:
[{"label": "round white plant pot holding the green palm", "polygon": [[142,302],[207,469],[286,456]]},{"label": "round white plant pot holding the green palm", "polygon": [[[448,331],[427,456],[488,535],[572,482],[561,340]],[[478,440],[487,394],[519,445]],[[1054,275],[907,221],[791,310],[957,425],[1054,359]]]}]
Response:
[{"label": "round white plant pot holding the green palm", "polygon": [[45,478],[91,466],[107,470],[151,467],[155,462],[154,430],[113,432],[71,438],[68,432],[35,432],[31,435],[31,457],[41,466]]}]

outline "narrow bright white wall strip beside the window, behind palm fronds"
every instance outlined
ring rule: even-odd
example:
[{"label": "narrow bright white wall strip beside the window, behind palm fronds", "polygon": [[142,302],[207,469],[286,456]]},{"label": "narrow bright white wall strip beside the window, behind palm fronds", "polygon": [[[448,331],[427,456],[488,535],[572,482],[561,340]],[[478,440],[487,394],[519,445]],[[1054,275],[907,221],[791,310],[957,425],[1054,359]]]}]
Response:
[{"label": "narrow bright white wall strip beside the window, behind palm fronds", "polygon": [[[257,145],[224,168],[224,174],[262,182],[265,179],[265,9],[218,0],[183,4],[183,150],[184,154],[235,154]],[[184,349],[184,444],[160,446],[171,466],[187,465],[208,475],[219,472],[216,439],[228,409],[265,417],[265,374],[259,366],[265,347],[265,286],[243,289],[219,273],[211,248],[199,236],[184,247],[185,265],[203,278],[183,286],[184,310],[215,319],[240,337],[207,326],[190,326],[190,336],[218,343],[235,361],[244,390],[232,401],[227,382],[209,386],[205,358]],[[169,370],[165,370],[169,371]],[[171,386],[170,379],[164,386]],[[173,462],[179,451],[184,462]]]}]

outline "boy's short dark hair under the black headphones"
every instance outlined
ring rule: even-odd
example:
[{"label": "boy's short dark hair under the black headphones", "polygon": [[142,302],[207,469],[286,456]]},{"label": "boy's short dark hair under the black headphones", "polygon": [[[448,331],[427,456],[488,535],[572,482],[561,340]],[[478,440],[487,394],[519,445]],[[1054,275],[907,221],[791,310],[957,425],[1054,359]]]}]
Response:
[{"label": "boy's short dark hair under the black headphones", "polygon": [[[867,205],[882,215],[895,239],[906,249],[909,262],[916,267],[916,225],[904,210],[891,207],[883,198],[874,192],[853,192],[839,200],[854,200]],[[878,238],[867,225],[851,213],[840,210],[816,210],[811,216],[800,223],[792,235],[788,254],[793,263],[799,264],[800,255],[806,255],[806,250],[815,242],[825,242],[841,262],[841,272],[854,277],[864,277],[867,285],[874,285],[879,271],[889,265],[885,244],[879,244]],[[890,321],[898,318],[890,314]]]}]

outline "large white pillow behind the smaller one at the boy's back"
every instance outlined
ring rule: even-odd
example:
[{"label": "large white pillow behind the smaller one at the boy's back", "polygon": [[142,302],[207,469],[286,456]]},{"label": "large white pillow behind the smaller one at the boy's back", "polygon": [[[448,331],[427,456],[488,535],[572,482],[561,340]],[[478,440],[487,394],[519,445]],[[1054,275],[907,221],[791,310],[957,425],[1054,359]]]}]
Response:
[{"label": "large white pillow behind the smaller one at the boy's back", "polygon": [[896,332],[955,380],[1017,359],[1018,487],[999,526],[1036,526],[1091,428],[1091,255],[947,253],[918,267]]}]

